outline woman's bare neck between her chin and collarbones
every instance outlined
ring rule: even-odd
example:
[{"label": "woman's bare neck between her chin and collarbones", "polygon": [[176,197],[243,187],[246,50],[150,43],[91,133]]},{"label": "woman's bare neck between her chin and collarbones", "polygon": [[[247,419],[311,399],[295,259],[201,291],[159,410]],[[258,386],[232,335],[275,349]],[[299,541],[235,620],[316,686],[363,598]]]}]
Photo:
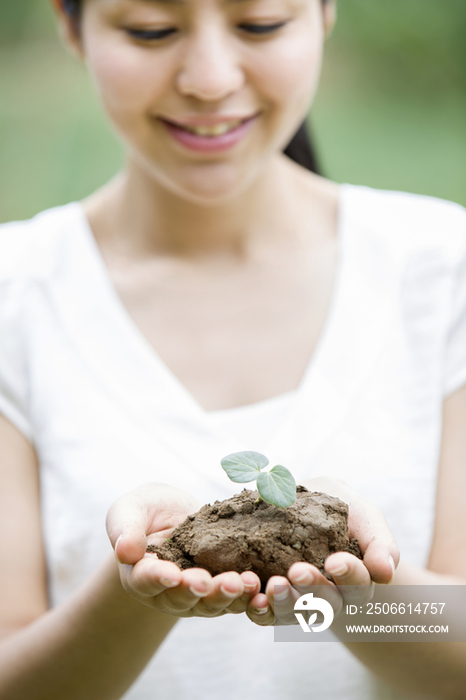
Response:
[{"label": "woman's bare neck between her chin and collarbones", "polygon": [[84,208],[99,245],[126,258],[243,257],[256,247],[301,236],[309,206],[315,214],[309,222],[320,230],[319,220],[331,216],[329,207],[336,208],[335,188],[278,156],[234,200],[205,206],[181,198],[130,164]]}]

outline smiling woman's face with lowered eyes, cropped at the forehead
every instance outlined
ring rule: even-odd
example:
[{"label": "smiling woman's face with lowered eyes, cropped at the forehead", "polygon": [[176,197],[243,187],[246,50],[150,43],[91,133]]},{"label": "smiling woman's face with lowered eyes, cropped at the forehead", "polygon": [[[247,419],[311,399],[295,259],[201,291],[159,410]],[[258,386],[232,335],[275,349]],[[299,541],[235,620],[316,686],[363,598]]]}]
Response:
[{"label": "smiling woman's face with lowered eyes, cropped at the forehead", "polygon": [[326,20],[321,0],[86,0],[80,50],[130,159],[215,203],[303,120]]}]

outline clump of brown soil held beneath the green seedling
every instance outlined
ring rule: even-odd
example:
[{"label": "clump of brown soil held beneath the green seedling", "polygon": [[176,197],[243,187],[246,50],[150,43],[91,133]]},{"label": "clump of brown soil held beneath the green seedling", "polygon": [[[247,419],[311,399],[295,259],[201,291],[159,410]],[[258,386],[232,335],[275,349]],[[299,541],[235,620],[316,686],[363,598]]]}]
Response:
[{"label": "clump of brown soil held beneath the green seedling", "polygon": [[304,486],[297,487],[296,501],[288,508],[257,502],[258,496],[257,491],[244,489],[233,498],[205,505],[163,545],[149,545],[147,551],[180,569],[199,566],[212,576],[254,571],[263,584],[271,576],[286,576],[296,561],[314,564],[323,572],[323,563],[333,552],[350,552],[362,559],[358,541],[349,539],[348,506],[340,499]]}]

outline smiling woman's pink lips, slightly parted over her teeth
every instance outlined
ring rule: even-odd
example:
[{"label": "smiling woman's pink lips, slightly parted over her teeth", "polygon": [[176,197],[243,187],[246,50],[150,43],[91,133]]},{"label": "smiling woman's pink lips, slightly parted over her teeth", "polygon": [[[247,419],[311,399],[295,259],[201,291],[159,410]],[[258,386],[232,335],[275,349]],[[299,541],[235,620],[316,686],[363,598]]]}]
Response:
[{"label": "smiling woman's pink lips, slightly parted over her teeth", "polygon": [[[179,125],[161,119],[170,135],[186,148],[200,153],[225,151],[235,146],[251,128],[257,115],[211,124]],[[197,133],[195,133],[195,131]]]}]

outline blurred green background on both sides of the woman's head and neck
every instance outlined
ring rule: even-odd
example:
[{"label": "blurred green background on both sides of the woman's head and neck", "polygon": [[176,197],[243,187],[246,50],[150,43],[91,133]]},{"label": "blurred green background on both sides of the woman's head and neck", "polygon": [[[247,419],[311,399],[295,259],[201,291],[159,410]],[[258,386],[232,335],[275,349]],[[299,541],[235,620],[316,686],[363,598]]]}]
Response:
[{"label": "blurred green background on both sides of the woman's head and neck", "polygon": [[[465,0],[340,0],[311,115],[325,174],[466,205]],[[0,221],[84,197],[121,148],[47,0],[0,4]]]}]

